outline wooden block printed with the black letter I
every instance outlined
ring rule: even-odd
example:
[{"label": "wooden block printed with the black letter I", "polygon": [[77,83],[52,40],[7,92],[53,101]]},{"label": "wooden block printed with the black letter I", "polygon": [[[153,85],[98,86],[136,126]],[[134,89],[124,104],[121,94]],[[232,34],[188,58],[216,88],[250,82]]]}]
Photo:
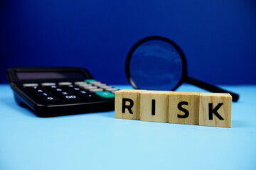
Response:
[{"label": "wooden block printed with the black letter I", "polygon": [[168,123],[170,91],[142,91],[140,96],[140,120]]}]

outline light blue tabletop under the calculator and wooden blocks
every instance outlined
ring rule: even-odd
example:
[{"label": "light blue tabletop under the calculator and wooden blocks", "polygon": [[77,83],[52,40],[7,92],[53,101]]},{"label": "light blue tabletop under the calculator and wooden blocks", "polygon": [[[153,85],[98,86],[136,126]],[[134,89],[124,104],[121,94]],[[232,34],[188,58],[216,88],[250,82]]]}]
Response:
[{"label": "light blue tabletop under the calculator and wooden blocks", "polygon": [[222,87],[240,94],[232,128],[115,119],[114,111],[38,118],[0,85],[0,169],[256,169],[256,86]]}]

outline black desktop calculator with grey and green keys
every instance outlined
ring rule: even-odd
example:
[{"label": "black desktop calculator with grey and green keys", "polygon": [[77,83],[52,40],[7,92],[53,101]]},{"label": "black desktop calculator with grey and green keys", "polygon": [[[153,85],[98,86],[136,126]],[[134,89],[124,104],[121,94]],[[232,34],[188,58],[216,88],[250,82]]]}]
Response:
[{"label": "black desktop calculator with grey and green keys", "polygon": [[118,89],[95,80],[87,69],[26,67],[8,69],[7,74],[18,105],[39,117],[114,110]]}]

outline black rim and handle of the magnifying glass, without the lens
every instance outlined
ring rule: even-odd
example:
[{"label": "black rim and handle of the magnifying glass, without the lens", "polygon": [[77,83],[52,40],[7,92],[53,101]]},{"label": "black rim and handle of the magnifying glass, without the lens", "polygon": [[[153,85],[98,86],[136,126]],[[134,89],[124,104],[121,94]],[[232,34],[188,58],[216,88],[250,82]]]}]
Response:
[{"label": "black rim and handle of the magnifying glass, without the lens", "polygon": [[166,42],[169,42],[171,45],[173,45],[175,47],[178,54],[181,56],[181,60],[182,60],[182,64],[183,64],[182,65],[183,66],[182,67],[182,76],[181,76],[180,81],[178,81],[178,84],[176,84],[174,89],[170,89],[170,91],[175,91],[178,88],[178,86],[181,86],[181,84],[186,82],[188,84],[193,84],[194,86],[198,86],[202,89],[206,89],[207,91],[210,91],[210,92],[228,93],[233,97],[232,98],[233,101],[238,101],[238,98],[239,98],[238,94],[234,94],[233,92],[226,91],[224,89],[220,89],[218,86],[214,86],[212,84],[208,84],[208,83],[205,83],[203,81],[199,81],[197,79],[193,79],[191,77],[188,77],[187,61],[186,61],[186,57],[185,57],[183,51],[181,50],[180,47],[178,47],[178,45],[176,45],[175,42],[173,42],[172,40],[169,40],[168,38],[164,38],[164,37],[161,37],[161,36],[150,36],[150,37],[143,38],[142,40],[139,40],[138,42],[136,42],[132,46],[131,50],[129,50],[129,53],[127,55],[127,60],[125,62],[125,73],[127,75],[127,79],[129,81],[129,83],[134,87],[134,89],[139,89],[139,88],[137,87],[137,85],[132,80],[132,77],[131,77],[131,74],[130,74],[130,69],[129,69],[130,61],[131,61],[132,55],[133,55],[134,51],[137,49],[137,47],[139,47],[139,45],[142,45],[142,43],[144,43],[148,40],[164,40]]}]

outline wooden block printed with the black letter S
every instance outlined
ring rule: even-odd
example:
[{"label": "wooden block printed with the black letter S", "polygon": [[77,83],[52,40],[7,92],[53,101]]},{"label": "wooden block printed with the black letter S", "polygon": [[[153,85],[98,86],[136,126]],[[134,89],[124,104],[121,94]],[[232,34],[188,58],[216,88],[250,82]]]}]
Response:
[{"label": "wooden block printed with the black letter S", "polygon": [[199,93],[172,92],[169,95],[169,123],[199,125]]}]

